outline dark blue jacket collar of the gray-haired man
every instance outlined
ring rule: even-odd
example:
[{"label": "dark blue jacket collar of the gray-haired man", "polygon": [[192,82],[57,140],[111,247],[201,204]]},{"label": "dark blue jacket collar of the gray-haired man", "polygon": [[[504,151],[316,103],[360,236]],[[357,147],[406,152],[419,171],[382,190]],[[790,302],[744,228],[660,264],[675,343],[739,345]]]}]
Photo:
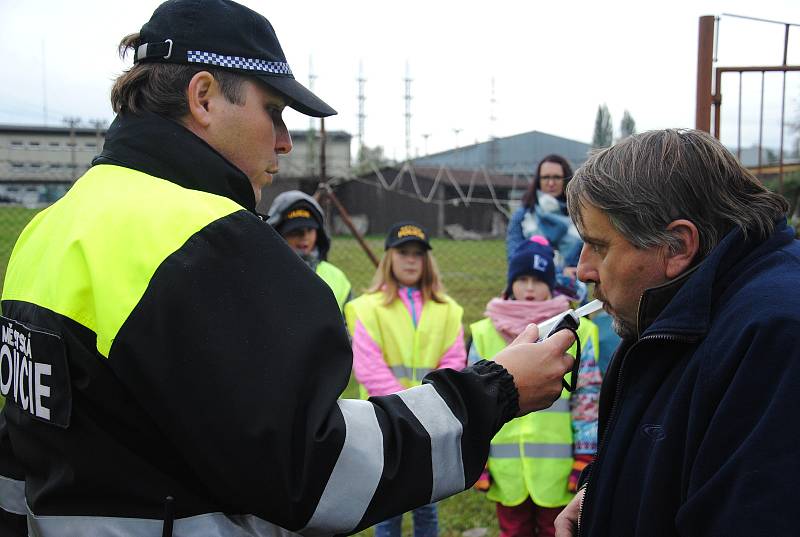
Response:
[{"label": "dark blue jacket collar of the gray-haired man", "polygon": [[776,222],[766,240],[745,240],[735,228],[696,267],[643,293],[637,316],[639,336],[702,336],[708,332],[712,306],[733,280],[754,260],[792,240],[794,230],[786,220]]}]

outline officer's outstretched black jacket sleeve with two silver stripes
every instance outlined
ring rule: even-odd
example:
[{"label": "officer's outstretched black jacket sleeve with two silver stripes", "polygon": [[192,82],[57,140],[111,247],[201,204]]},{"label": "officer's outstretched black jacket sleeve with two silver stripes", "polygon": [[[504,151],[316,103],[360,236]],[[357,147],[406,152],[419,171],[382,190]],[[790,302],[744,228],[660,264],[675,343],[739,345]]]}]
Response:
[{"label": "officer's outstretched black jacket sleeve with two silver stripes", "polygon": [[226,512],[307,535],[464,490],[518,410],[493,363],[338,400],[352,354],[333,295],[244,211],[162,263],[108,361]]}]

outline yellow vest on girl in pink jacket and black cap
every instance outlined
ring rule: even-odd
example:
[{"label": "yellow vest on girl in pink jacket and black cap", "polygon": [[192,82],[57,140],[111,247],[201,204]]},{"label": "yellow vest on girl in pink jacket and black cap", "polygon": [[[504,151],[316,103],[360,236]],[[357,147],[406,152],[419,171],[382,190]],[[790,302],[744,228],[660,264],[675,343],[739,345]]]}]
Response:
[{"label": "yellow vest on girl in pink jacket and black cap", "polygon": [[[382,292],[361,295],[345,305],[347,328],[352,335],[356,321],[361,321],[400,384],[406,388],[418,386],[425,375],[436,369],[461,331],[463,308],[446,295],[444,299],[444,303],[425,301],[414,327],[399,298],[385,306]],[[366,395],[363,386],[361,394]]]}]

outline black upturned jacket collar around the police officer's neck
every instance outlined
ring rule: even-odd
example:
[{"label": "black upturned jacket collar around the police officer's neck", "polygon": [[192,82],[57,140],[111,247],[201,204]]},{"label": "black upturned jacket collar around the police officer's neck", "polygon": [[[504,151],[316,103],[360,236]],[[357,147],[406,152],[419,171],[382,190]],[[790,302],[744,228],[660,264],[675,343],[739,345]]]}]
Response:
[{"label": "black upturned jacket collar around the police officer's neck", "polygon": [[250,180],[183,125],[151,112],[118,115],[92,165],[113,164],[229,198],[255,212]]}]

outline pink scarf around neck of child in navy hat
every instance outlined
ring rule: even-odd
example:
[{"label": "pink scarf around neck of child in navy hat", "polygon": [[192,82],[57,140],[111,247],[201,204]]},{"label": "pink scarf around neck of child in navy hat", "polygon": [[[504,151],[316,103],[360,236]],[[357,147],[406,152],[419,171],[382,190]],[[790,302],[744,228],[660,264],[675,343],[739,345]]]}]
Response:
[{"label": "pink scarf around neck of child in navy hat", "polygon": [[539,302],[493,298],[486,304],[484,315],[492,320],[500,335],[511,343],[529,324],[540,323],[568,309],[569,300],[564,296]]}]

